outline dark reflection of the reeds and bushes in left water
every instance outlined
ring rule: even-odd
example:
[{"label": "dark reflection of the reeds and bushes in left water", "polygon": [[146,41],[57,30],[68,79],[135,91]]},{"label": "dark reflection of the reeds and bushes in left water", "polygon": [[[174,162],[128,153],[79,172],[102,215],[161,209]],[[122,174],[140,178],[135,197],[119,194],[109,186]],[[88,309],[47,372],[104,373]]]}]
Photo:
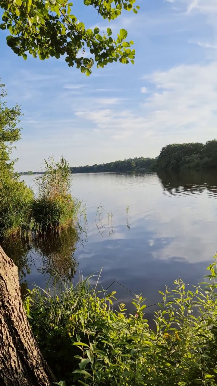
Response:
[{"label": "dark reflection of the reeds and bushes in left water", "polygon": [[[5,253],[18,268],[20,284],[27,286],[25,276],[31,273],[32,264],[36,264],[39,273],[49,274],[55,280],[71,280],[76,273],[78,262],[74,256],[79,232],[69,228],[61,232],[46,232],[34,235],[31,240],[17,238],[0,242]],[[24,289],[24,292],[26,288]]]}]

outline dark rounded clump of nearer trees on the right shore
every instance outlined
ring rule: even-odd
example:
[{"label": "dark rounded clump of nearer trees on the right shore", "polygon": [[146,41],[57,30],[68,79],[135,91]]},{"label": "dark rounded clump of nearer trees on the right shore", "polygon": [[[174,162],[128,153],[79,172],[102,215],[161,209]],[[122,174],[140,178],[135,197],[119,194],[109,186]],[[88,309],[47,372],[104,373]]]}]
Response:
[{"label": "dark rounded clump of nearer trees on the right shore", "polygon": [[163,147],[154,170],[217,168],[217,140]]}]

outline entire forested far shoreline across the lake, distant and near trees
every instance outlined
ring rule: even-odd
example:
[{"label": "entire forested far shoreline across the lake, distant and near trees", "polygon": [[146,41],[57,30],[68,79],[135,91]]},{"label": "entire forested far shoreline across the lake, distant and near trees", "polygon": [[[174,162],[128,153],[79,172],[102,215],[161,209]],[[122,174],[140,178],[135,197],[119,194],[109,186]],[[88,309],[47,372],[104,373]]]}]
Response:
[{"label": "entire forested far shoreline across the lake, distant and near trees", "polygon": [[[217,140],[164,146],[156,158],[135,157],[106,164],[76,166],[71,173],[107,173],[127,171],[160,171],[217,168]],[[44,172],[20,172],[22,174],[43,174]]]}]

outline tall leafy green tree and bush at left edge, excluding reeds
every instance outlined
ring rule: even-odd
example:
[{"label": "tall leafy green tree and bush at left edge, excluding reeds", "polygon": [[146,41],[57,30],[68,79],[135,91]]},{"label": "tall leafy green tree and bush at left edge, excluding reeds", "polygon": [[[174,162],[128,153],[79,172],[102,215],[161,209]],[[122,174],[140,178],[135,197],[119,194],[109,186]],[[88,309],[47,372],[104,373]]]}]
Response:
[{"label": "tall leafy green tree and bush at left edge, excluding reeds", "polygon": [[7,107],[5,85],[0,85],[0,235],[16,235],[31,218],[33,192],[14,172],[12,145],[20,139],[18,105]]}]

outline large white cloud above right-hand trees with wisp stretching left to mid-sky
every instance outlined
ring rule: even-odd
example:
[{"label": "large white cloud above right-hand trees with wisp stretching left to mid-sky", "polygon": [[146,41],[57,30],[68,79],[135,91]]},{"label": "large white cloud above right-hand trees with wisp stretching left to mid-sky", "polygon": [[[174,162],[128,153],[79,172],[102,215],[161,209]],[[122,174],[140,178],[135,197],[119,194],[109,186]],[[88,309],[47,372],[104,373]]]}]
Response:
[{"label": "large white cloud above right-hand trees with wisp stretching left to mid-sky", "polygon": [[[133,108],[123,109],[122,105],[106,109],[90,105],[86,110],[77,110],[75,115],[90,120],[104,139],[131,141],[137,137],[142,142],[149,138],[151,143],[163,136],[163,141],[170,143],[205,142],[216,136],[217,62],[181,65],[144,78],[154,89],[137,112]],[[101,103],[115,105],[117,101],[113,98]]]}]

